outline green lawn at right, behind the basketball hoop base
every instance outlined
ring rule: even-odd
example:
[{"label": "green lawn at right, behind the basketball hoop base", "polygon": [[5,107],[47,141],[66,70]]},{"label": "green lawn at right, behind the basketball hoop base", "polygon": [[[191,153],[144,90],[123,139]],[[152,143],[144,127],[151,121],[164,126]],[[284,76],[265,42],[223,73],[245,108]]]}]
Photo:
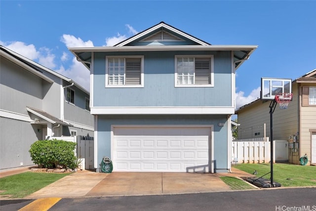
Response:
[{"label": "green lawn at right, behind the basketball hoop base", "polygon": [[[270,164],[237,164],[234,168],[251,174],[256,170],[257,177],[268,173],[264,178],[270,179]],[[273,181],[282,187],[316,186],[316,166],[273,164]]]}]

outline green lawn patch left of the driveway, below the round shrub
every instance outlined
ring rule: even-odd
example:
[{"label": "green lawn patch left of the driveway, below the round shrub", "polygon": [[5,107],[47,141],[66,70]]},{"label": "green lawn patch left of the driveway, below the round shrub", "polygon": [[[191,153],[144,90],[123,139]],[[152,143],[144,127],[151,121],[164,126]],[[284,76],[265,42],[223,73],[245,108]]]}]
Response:
[{"label": "green lawn patch left of the driveway, below the round shrub", "polygon": [[0,178],[0,195],[23,198],[69,174],[71,173],[24,172],[2,177]]}]

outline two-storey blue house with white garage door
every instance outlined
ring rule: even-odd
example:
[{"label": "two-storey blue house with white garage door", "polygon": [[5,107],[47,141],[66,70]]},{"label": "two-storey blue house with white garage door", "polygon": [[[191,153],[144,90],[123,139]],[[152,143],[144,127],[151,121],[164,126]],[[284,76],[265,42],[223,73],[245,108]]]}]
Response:
[{"label": "two-storey blue house with white garage door", "polygon": [[211,45],[164,22],[115,46],[69,48],[91,74],[95,168],[228,172],[235,71],[253,45]]}]

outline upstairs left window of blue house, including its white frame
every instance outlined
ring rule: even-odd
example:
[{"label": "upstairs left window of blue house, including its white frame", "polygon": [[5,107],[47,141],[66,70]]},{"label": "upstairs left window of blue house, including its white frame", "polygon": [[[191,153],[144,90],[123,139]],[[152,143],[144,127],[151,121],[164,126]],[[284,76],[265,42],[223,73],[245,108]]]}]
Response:
[{"label": "upstairs left window of blue house, including its white frame", "polygon": [[144,87],[144,56],[106,57],[106,87]]}]

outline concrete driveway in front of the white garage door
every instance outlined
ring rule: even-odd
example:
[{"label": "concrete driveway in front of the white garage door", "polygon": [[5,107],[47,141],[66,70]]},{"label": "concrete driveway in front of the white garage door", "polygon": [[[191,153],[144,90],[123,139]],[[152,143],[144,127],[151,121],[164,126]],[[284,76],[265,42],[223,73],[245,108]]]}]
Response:
[{"label": "concrete driveway in front of the white garage door", "polygon": [[25,197],[141,196],[231,190],[216,174],[78,171]]}]

